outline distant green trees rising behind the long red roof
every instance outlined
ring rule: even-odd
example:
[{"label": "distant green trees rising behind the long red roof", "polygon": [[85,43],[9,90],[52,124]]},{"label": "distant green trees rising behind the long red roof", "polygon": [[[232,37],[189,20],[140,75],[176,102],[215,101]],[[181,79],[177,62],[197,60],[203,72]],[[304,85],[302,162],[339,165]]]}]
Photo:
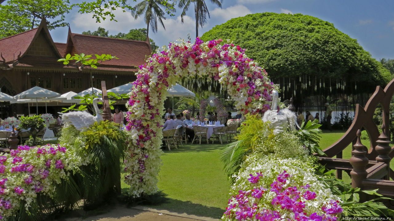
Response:
[{"label": "distant green trees rising behind the long red roof", "polygon": [[[131,29],[128,33],[117,33],[116,35],[108,35],[109,31],[106,31],[105,28],[97,28],[97,31],[83,31],[83,35],[94,35],[100,37],[110,37],[115,39],[128,39],[128,40],[136,40],[136,41],[146,41],[147,39],[147,29],[139,28],[139,29]],[[149,38],[151,42],[152,51],[155,52],[159,46]]]}]

